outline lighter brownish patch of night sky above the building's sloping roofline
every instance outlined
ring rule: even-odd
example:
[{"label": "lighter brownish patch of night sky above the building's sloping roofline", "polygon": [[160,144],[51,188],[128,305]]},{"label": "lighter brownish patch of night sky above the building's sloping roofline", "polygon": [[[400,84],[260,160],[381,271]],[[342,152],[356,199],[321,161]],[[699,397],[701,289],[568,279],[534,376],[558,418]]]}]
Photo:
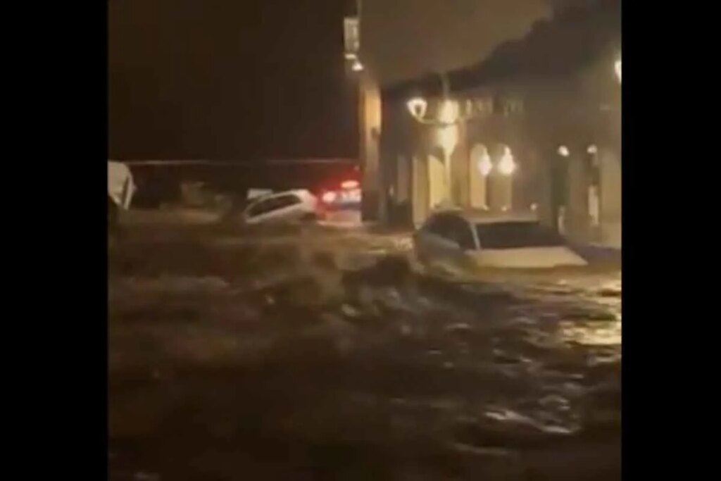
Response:
[{"label": "lighter brownish patch of night sky above the building's sloping roofline", "polygon": [[364,0],[368,61],[385,84],[477,63],[523,37],[554,1]]}]

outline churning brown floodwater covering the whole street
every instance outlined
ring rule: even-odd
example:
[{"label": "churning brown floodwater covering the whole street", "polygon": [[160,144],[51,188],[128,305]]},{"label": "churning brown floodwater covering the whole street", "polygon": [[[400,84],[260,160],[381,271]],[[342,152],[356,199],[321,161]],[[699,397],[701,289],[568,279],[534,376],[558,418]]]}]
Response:
[{"label": "churning brown floodwater covering the whole street", "polygon": [[113,245],[110,479],[620,479],[620,269],[461,281],[409,249]]}]

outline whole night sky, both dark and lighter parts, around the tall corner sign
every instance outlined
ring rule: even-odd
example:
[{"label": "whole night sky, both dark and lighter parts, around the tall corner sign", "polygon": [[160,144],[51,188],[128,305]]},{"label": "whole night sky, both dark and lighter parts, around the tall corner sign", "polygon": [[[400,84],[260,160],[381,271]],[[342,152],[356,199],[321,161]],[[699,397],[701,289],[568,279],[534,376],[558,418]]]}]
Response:
[{"label": "whole night sky, both dark and lighter parts, around the tall corner sign", "polygon": [[[474,63],[551,1],[365,0],[366,61],[385,84]],[[349,4],[110,0],[110,158],[355,157]]]}]

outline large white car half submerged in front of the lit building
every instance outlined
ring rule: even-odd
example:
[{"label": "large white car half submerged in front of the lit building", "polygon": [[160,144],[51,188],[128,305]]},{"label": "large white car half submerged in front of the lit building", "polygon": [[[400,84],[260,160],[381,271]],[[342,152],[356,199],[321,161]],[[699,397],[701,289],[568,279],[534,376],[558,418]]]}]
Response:
[{"label": "large white car half submerged in front of the lit building", "polygon": [[464,270],[587,265],[533,214],[441,211],[416,231],[413,245],[425,265]]}]

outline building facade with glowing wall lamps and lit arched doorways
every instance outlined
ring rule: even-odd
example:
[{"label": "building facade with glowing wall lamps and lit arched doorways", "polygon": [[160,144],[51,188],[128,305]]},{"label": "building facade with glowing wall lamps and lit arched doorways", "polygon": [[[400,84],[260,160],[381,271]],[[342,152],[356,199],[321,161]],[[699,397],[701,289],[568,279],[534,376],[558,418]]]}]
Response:
[{"label": "building facade with glowing wall lamps and lit arched doorways", "polygon": [[539,22],[477,66],[383,92],[382,216],[538,211],[579,242],[621,244],[619,0]]}]

